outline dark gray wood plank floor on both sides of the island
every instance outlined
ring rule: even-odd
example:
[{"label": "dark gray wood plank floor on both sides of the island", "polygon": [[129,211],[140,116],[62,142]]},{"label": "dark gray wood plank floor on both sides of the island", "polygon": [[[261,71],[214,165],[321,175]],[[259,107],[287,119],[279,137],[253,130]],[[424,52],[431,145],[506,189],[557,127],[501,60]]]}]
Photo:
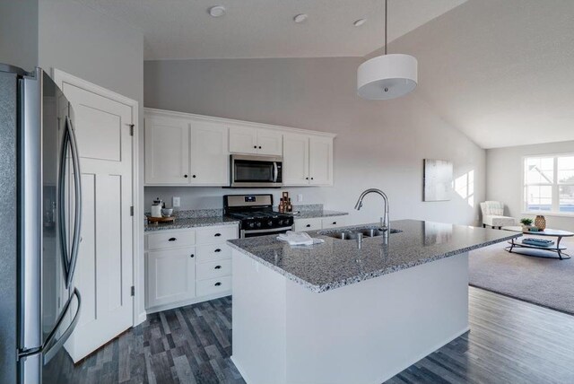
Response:
[{"label": "dark gray wood plank floor on both sides of the island", "polygon": [[[574,383],[574,317],[471,287],[470,327],[387,383]],[[152,314],[76,366],[61,351],[48,382],[244,382],[230,353],[225,297]]]}]

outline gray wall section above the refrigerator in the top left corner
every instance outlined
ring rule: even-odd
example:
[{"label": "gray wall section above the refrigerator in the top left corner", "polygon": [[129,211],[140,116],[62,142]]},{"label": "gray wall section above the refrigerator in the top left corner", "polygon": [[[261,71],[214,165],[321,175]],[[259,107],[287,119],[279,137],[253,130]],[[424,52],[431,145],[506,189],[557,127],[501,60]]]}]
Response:
[{"label": "gray wall section above the refrigerator in the top left corner", "polygon": [[38,0],[0,0],[0,63],[38,65]]}]

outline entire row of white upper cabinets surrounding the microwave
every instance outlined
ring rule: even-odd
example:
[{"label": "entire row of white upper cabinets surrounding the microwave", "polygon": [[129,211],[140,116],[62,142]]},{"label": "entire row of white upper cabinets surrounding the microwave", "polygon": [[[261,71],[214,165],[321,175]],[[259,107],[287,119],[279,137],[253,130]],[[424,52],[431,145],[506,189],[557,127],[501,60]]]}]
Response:
[{"label": "entire row of white upper cabinets surrounding the microwave", "polygon": [[335,135],[145,109],[145,185],[229,186],[230,153],[283,155],[285,186],[333,185]]}]

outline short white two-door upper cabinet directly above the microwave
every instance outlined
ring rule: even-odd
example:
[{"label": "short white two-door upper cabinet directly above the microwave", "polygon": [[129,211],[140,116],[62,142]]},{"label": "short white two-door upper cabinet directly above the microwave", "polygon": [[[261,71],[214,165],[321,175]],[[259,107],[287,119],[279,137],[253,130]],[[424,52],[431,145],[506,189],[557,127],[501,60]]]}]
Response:
[{"label": "short white two-door upper cabinet directly above the microwave", "polygon": [[254,127],[230,127],[230,153],[253,153],[281,156],[281,131]]}]

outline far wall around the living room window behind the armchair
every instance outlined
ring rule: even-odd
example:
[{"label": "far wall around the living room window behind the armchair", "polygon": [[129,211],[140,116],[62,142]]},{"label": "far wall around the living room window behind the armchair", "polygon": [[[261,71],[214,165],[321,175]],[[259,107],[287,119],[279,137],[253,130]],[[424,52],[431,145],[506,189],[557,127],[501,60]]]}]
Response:
[{"label": "far wall around the living room window behind the armchair", "polygon": [[[508,214],[516,217],[534,217],[523,214],[522,158],[527,155],[574,153],[574,141],[521,145],[486,151],[486,197],[498,200],[508,207]],[[545,215],[551,228],[574,231],[574,217]]]}]

